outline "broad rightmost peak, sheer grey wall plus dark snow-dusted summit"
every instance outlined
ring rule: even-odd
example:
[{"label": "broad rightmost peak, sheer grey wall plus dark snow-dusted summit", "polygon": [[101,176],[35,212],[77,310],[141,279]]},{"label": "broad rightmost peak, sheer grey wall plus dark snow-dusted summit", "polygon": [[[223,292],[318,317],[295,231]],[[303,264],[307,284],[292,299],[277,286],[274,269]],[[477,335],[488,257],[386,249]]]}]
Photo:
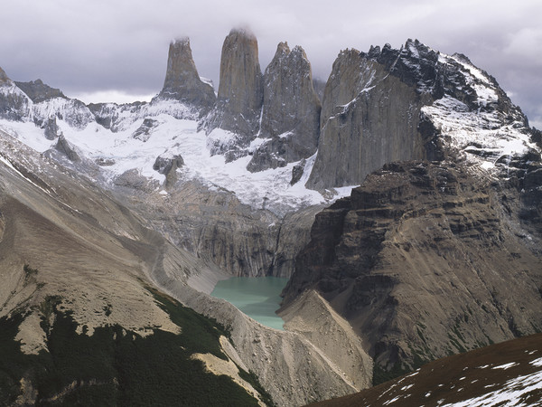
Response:
[{"label": "broad rightmost peak, sheer grey wall plus dark snow-dusted summit", "polygon": [[[443,118],[455,119],[453,128],[462,131],[451,131]],[[463,55],[444,55],[412,40],[400,50],[386,45],[341,52],[324,91],[321,125],[307,183],[314,189],[359,185],[396,160],[476,153],[467,148],[476,129],[493,130],[481,143],[487,149],[499,131],[528,131],[520,109],[490,75]],[[521,138],[517,132],[512,137]]]}]

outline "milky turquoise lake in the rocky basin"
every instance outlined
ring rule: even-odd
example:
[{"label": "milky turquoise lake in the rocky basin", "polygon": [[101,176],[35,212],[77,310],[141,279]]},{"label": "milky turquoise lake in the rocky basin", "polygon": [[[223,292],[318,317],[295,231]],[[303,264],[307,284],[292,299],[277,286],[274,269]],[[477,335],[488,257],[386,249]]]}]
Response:
[{"label": "milky turquoise lake in the rocky basin", "polygon": [[266,327],[283,329],[284,321],[275,311],[287,281],[279,277],[232,277],[220,280],[210,295],[225,299]]}]

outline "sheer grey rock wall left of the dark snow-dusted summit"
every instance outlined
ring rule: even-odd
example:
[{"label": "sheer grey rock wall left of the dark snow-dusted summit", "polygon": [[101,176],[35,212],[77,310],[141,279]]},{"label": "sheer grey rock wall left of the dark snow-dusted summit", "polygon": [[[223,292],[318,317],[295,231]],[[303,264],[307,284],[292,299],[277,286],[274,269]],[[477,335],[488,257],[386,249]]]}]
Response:
[{"label": "sheer grey rock wall left of the dark snow-dusted summit", "polygon": [[387,162],[423,158],[417,127],[429,99],[367,55],[341,52],[325,88],[322,136],[307,185],[357,185]]}]

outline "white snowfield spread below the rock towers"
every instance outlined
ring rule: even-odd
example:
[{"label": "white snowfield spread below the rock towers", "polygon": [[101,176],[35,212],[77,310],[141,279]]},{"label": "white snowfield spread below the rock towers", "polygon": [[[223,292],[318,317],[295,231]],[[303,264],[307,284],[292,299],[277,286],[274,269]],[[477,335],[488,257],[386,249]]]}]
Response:
[{"label": "white snowfield spread below the rock towers", "polygon": [[[352,187],[338,188],[330,191],[325,197],[304,187],[315,156],[307,159],[302,179],[295,185],[290,185],[292,169],[298,163],[250,173],[246,167],[251,156],[241,157],[230,163],[225,163],[224,156],[211,156],[209,137],[206,137],[204,132],[197,131],[195,120],[173,118],[170,114],[159,111],[154,113],[157,115],[152,118],[158,125],[150,129],[146,141],[133,137],[144,118],[134,121],[118,132],[103,128],[94,121],[83,129],[70,127],[63,120],[57,119],[57,123],[79,156],[84,156],[95,163],[107,163],[107,166],[101,166],[100,169],[108,183],[113,183],[118,175],[136,169],[139,174],[164,185],[165,176],[153,169],[156,157],[181,155],[185,165],[177,171],[182,179],[197,179],[213,190],[227,190],[235,194],[241,203],[257,209],[265,207],[282,212],[285,208],[294,210],[313,204],[330,203],[337,198],[350,195]],[[40,153],[53,148],[56,144],[56,140],[46,139],[43,130],[30,121],[0,120],[0,129]],[[215,129],[210,137],[227,141],[229,137],[235,135]]]}]

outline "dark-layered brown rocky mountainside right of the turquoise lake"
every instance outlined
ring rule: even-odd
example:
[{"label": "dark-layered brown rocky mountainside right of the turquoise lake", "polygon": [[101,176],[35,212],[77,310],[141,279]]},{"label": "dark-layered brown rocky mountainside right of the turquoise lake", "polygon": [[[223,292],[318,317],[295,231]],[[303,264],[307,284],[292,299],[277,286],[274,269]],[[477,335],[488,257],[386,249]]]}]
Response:
[{"label": "dark-layered brown rocky mountainside right of the turquoise lake", "polygon": [[369,344],[375,372],[540,331],[540,235],[501,206],[521,199],[449,163],[384,166],[316,216],[285,304],[318,289]]}]

